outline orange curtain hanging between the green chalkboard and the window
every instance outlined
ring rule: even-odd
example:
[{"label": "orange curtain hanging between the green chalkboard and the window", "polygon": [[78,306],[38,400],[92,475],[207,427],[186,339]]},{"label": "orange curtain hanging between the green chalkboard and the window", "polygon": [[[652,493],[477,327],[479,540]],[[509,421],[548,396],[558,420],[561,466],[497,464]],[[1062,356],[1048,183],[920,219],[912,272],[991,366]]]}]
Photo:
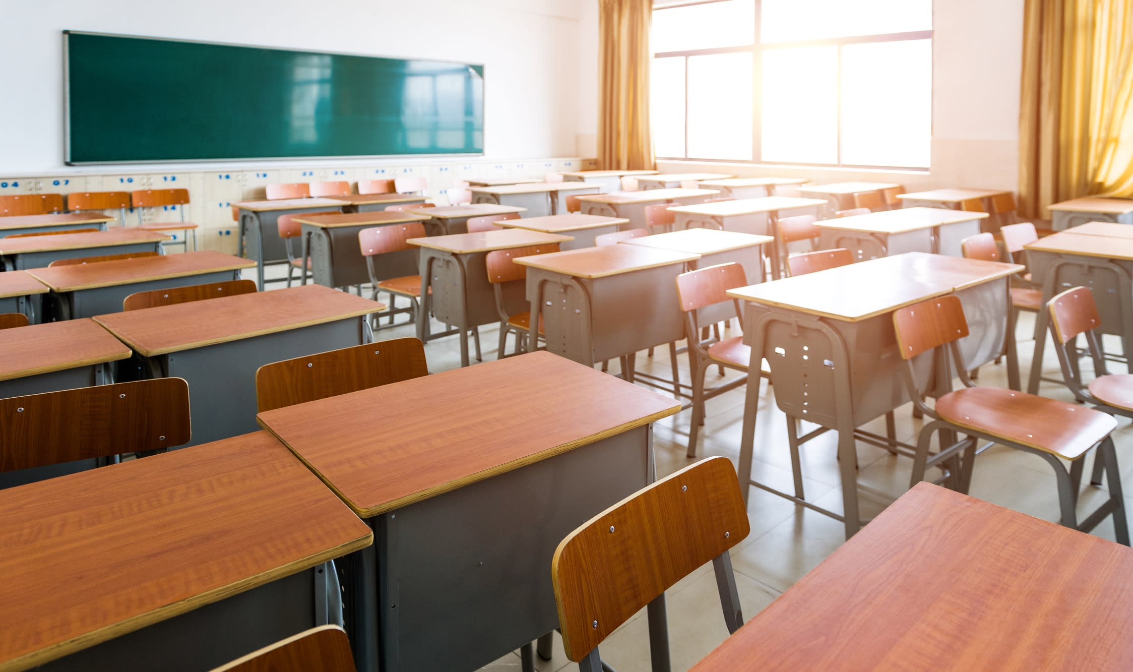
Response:
[{"label": "orange curtain hanging between the green chalkboard and the window", "polygon": [[649,20],[653,0],[598,0],[598,163],[654,167],[649,136]]}]

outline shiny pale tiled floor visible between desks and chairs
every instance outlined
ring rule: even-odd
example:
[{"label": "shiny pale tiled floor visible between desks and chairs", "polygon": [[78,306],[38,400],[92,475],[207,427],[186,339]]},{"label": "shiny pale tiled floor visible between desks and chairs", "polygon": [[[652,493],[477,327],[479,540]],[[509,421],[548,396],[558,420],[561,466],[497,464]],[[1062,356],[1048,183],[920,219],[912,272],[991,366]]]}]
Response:
[{"label": "shiny pale tiled floor visible between desks and chairs", "polygon": [[[398,316],[398,318],[404,317]],[[1030,369],[1033,348],[1033,340],[1030,338],[1032,324],[1031,316],[1024,313],[1017,330],[1020,368],[1024,382]],[[497,333],[494,326],[480,329],[485,360],[495,359]],[[377,332],[378,340],[404,335],[414,335],[412,329],[402,326]],[[510,340],[509,347],[511,347]],[[1049,343],[1046,351],[1045,375],[1058,376],[1058,364]],[[1119,348],[1114,347],[1114,351],[1119,351]],[[460,349],[455,337],[427,343],[425,352],[432,373],[460,365]],[[1085,366],[1089,368],[1089,365]],[[687,381],[688,363],[683,356],[680,367]],[[612,363],[614,373],[616,368],[616,363]],[[651,359],[644,352],[640,354],[638,368],[667,375],[670,371],[667,349],[657,348]],[[1124,373],[1124,367],[1119,365],[1114,368]],[[734,375],[736,374],[729,374],[729,376]],[[709,372],[708,376],[709,385],[718,382],[714,371]],[[979,383],[988,386],[1007,386],[1005,365],[987,366],[981,369]],[[1065,401],[1073,400],[1064,386],[1054,383],[1042,383],[1040,393]],[[708,401],[697,459],[724,456],[733,462],[739,460],[743,401],[743,388]],[[906,405],[896,412],[897,437],[915,443],[921,420],[912,418],[911,408],[911,405]],[[685,457],[690,417],[691,410],[684,410],[655,425],[654,444],[658,477],[672,474],[695,461]],[[875,424],[878,426],[872,427],[874,431],[884,433],[881,420],[876,420]],[[791,462],[786,449],[785,428],[784,416],[774,406],[774,388],[768,389],[765,383],[757,420],[755,476],[757,480],[790,490]],[[1133,428],[1130,427],[1128,420],[1118,419],[1115,437],[1118,459],[1122,460],[1123,485],[1126,493],[1133,493]],[[818,505],[841,511],[842,495],[835,444],[834,433],[820,435],[804,444],[802,467],[807,499]],[[1092,465],[1092,457],[1088,460],[1087,474]],[[859,483],[871,491],[860,492],[861,513],[863,518],[870,518],[908,490],[911,460],[859,443],[858,462]],[[884,497],[872,494],[875,492],[881,493]],[[1054,474],[1047,462],[1037,456],[1003,446],[987,450],[977,459],[970,494],[1047,520],[1058,519]],[[1104,497],[1105,494],[1098,488],[1087,486],[1079,505],[1080,513],[1091,511]],[[1128,497],[1126,501],[1127,507],[1133,504]],[[790,588],[845,541],[841,522],[758,488],[752,488],[749,494],[748,513],[751,534],[732,551],[732,563],[744,619],[750,619],[770,604],[780,593]],[[1093,534],[1113,539],[1113,524],[1107,518]],[[674,586],[666,593],[666,599],[673,670],[687,670],[727,637],[709,565],[700,568]],[[620,628],[600,647],[603,660],[619,672],[649,670],[649,646],[644,613],[642,611]],[[557,635],[555,637],[553,658],[536,661],[536,667],[540,671],[573,669],[573,663],[566,660],[562,650]],[[519,655],[512,653],[484,670],[519,670]]]}]

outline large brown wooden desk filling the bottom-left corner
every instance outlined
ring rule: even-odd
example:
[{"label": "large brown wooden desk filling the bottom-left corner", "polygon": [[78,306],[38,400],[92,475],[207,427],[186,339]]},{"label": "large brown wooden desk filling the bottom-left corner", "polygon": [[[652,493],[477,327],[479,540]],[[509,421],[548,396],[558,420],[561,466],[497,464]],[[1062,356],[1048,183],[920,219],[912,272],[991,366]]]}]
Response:
[{"label": "large brown wooden desk filling the bottom-left corner", "polygon": [[372,538],[267,432],[0,490],[0,667],[212,669],[335,622]]}]

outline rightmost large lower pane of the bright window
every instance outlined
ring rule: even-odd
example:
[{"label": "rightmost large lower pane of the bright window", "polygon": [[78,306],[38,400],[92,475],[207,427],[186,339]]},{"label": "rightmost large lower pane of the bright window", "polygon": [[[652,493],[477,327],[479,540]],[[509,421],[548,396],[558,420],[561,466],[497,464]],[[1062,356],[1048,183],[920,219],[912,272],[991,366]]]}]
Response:
[{"label": "rightmost large lower pane of the bright window", "polygon": [[928,168],[930,40],[842,48],[842,163]]}]

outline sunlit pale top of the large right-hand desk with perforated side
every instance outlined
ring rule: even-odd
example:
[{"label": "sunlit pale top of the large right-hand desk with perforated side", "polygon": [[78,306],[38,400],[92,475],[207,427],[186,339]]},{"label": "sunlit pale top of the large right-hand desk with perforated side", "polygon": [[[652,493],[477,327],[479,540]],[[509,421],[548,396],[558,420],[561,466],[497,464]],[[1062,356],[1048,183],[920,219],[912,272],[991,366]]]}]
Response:
[{"label": "sunlit pale top of the large right-hand desk with perforated side", "polygon": [[741,287],[729,290],[727,296],[841,322],[860,322],[1022,270],[1019,264],[913,252]]}]

